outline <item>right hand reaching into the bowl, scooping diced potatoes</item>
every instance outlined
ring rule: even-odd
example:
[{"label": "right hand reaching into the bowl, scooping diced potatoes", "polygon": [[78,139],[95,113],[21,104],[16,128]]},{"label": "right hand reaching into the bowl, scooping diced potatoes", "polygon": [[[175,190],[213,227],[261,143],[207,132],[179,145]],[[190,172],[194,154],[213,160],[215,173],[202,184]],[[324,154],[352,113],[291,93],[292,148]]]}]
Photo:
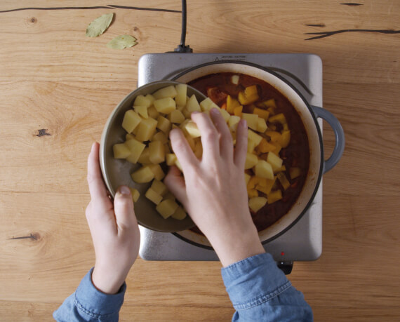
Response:
[{"label": "right hand reaching into the bowl, scooping diced potatoes", "polygon": [[211,109],[211,119],[204,113],[192,113],[191,117],[201,133],[203,156],[198,160],[182,132],[171,130],[173,151],[185,177],[171,167],[164,182],[206,235],[224,267],[265,253],[248,210],[246,121],[239,122],[234,149],[218,109]]}]

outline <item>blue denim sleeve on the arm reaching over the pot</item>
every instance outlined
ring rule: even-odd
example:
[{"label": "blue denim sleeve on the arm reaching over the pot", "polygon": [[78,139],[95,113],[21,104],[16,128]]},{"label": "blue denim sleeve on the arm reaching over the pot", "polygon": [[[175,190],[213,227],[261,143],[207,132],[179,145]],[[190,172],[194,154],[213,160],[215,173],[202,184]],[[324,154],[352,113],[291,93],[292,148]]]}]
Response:
[{"label": "blue denim sleeve on the arm reaching over the pot", "polygon": [[304,296],[286,279],[268,253],[248,257],[222,269],[236,312],[232,321],[312,321]]}]

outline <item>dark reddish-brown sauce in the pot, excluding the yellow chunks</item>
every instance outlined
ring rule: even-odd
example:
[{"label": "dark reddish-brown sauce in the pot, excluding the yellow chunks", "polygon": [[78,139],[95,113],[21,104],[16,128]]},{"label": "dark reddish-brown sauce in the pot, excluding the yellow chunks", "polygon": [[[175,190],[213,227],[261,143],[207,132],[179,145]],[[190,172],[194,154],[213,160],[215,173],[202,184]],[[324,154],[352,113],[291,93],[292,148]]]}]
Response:
[{"label": "dark reddish-brown sauce in the pot, excluding the yellow chunks", "polygon": [[[291,186],[284,190],[279,180],[276,180],[275,185],[277,186],[275,188],[281,189],[282,199],[271,204],[267,203],[257,213],[251,211],[253,222],[260,232],[288,213],[298,199],[309,170],[308,138],[298,112],[296,112],[291,102],[279,90],[276,90],[276,88],[265,81],[244,74],[239,74],[239,84],[235,85],[231,81],[233,75],[233,73],[211,74],[195,79],[189,82],[189,85],[200,90],[204,95],[208,95],[220,107],[226,101],[227,95],[237,98],[239,92],[244,90],[244,88],[256,85],[260,98],[253,104],[258,105],[260,102],[273,98],[276,102],[275,114],[284,113],[288,128],[291,130],[291,141],[288,147],[281,149],[281,152],[279,152],[279,156],[284,160],[284,166],[286,166],[284,173]],[[251,106],[244,105],[243,112],[251,113]],[[276,126],[276,130],[281,130],[279,128],[280,124]],[[301,175],[293,180],[289,174],[291,167],[301,169]],[[195,228],[194,231],[199,232],[199,229]]]}]

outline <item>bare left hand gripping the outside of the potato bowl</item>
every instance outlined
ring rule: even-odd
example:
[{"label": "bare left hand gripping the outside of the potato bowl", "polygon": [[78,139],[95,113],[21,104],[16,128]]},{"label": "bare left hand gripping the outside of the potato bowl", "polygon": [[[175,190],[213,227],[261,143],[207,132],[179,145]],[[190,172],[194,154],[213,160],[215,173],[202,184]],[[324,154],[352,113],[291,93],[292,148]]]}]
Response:
[{"label": "bare left hand gripping the outside of the potato bowl", "polygon": [[91,202],[86,208],[86,220],[96,256],[92,281],[103,293],[115,294],[138,257],[140,232],[129,188],[119,187],[114,204],[109,199],[102,180],[97,142],[88,157],[88,185]]}]

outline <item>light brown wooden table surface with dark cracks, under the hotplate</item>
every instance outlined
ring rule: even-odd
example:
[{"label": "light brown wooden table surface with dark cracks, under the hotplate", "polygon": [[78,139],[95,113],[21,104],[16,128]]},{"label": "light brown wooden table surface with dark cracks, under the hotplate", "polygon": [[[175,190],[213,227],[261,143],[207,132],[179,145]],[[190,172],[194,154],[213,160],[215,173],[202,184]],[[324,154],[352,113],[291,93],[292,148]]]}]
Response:
[{"label": "light brown wooden table surface with dark cracks, under the hotplate", "polygon": [[[138,59],[180,41],[180,1],[0,2],[0,320],[51,321],[93,265],[84,209],[86,158],[116,104],[136,87]],[[54,7],[71,7],[55,10]],[[89,8],[104,6],[104,8]],[[196,53],[315,53],[324,107],[346,149],[324,175],[323,253],[289,276],[316,321],[400,316],[398,0],[188,1]],[[52,8],[39,10],[40,8]],[[87,8],[79,8],[87,7]],[[29,8],[16,11],[13,9]],[[102,36],[89,22],[115,13]],[[363,31],[361,31],[361,29]],[[340,32],[343,31],[343,32]],[[323,33],[321,38],[310,39]],[[131,34],[123,51],[105,44]],[[324,127],[326,156],[333,133]],[[145,262],[128,276],[121,321],[229,321],[218,262]]]}]

